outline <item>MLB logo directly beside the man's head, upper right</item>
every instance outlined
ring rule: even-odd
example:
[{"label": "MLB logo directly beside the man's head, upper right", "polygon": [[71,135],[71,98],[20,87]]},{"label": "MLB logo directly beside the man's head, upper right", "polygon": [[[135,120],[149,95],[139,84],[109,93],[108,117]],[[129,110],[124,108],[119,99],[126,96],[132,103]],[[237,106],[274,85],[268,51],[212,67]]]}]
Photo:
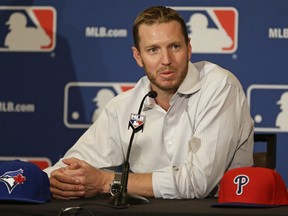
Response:
[{"label": "MLB logo directly beside the man's head, upper right", "polygon": [[233,7],[172,7],[186,22],[193,53],[234,53],[238,11]]}]

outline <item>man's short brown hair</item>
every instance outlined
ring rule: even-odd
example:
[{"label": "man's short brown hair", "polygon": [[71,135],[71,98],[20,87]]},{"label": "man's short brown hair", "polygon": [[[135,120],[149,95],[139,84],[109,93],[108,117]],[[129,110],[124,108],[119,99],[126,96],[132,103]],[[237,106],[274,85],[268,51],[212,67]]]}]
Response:
[{"label": "man's short brown hair", "polygon": [[139,50],[139,27],[141,24],[152,25],[176,21],[181,25],[185,43],[188,44],[188,33],[183,18],[173,9],[164,6],[153,6],[141,12],[134,21],[133,39],[134,46]]}]

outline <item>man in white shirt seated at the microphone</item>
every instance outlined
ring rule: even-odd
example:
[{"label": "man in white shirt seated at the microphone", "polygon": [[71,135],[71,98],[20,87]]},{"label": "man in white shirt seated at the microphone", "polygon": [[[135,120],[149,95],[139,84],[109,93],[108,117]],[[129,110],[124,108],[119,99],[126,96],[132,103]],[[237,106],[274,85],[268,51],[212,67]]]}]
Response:
[{"label": "man in white shirt seated at the microphone", "polygon": [[133,26],[133,56],[147,77],[113,98],[99,118],[53,167],[51,192],[73,199],[108,193],[123,163],[145,100],[143,132],[130,153],[128,193],[156,198],[205,198],[227,169],[252,165],[253,121],[239,81],[209,62],[192,64],[185,22],[172,9],[151,7]]}]

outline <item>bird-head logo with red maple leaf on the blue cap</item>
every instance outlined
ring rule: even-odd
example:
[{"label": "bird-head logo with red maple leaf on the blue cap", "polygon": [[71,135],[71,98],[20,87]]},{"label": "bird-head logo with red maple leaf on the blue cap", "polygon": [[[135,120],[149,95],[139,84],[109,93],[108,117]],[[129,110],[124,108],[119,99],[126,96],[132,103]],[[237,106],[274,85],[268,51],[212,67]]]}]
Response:
[{"label": "bird-head logo with red maple leaf on the blue cap", "polygon": [[26,177],[23,175],[22,169],[8,171],[0,176],[0,182],[3,182],[6,185],[9,194],[12,193],[15,187],[23,184],[25,181]]}]

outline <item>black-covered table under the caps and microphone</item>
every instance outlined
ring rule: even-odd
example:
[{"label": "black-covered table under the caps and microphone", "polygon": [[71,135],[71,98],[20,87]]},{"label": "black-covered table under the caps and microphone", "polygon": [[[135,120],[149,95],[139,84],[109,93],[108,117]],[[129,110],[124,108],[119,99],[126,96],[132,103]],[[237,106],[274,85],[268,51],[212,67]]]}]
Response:
[{"label": "black-covered table under the caps and microphone", "polygon": [[[92,215],[165,215],[165,216],[179,216],[179,215],[233,215],[233,216],[251,216],[251,215],[288,215],[288,206],[276,208],[223,208],[211,207],[212,204],[217,203],[215,198],[207,199],[193,199],[193,200],[164,200],[164,199],[149,199],[149,204],[131,205],[125,209],[115,209],[106,205],[108,195],[96,196],[93,198],[83,198],[77,200],[52,200],[45,204],[23,204],[23,203],[1,203],[0,215],[1,216],[23,216],[23,215],[37,215],[37,216],[57,216],[62,208],[79,206],[82,204],[91,204],[84,206],[85,209],[91,210]],[[83,214],[82,214],[83,213]],[[86,212],[78,214],[91,215]],[[67,214],[65,214],[66,216]],[[72,216],[71,214],[68,214]]]}]

